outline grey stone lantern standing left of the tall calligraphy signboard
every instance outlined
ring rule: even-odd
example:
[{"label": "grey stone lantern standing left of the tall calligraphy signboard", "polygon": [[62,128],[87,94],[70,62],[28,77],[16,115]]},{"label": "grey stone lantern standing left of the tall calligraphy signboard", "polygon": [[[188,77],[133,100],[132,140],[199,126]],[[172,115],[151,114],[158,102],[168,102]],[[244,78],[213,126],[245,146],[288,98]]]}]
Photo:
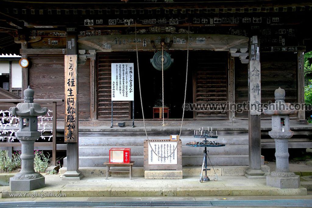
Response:
[{"label": "grey stone lantern standing left of the tall calligraphy signboard", "polygon": [[22,143],[21,172],[10,178],[11,191],[30,191],[45,186],[45,178],[34,170],[34,143],[41,133],[38,131],[37,116],[45,115],[48,109],[34,103],[34,90],[24,90],[24,103],[11,107],[10,113],[20,117],[20,129],[16,132]]}]

